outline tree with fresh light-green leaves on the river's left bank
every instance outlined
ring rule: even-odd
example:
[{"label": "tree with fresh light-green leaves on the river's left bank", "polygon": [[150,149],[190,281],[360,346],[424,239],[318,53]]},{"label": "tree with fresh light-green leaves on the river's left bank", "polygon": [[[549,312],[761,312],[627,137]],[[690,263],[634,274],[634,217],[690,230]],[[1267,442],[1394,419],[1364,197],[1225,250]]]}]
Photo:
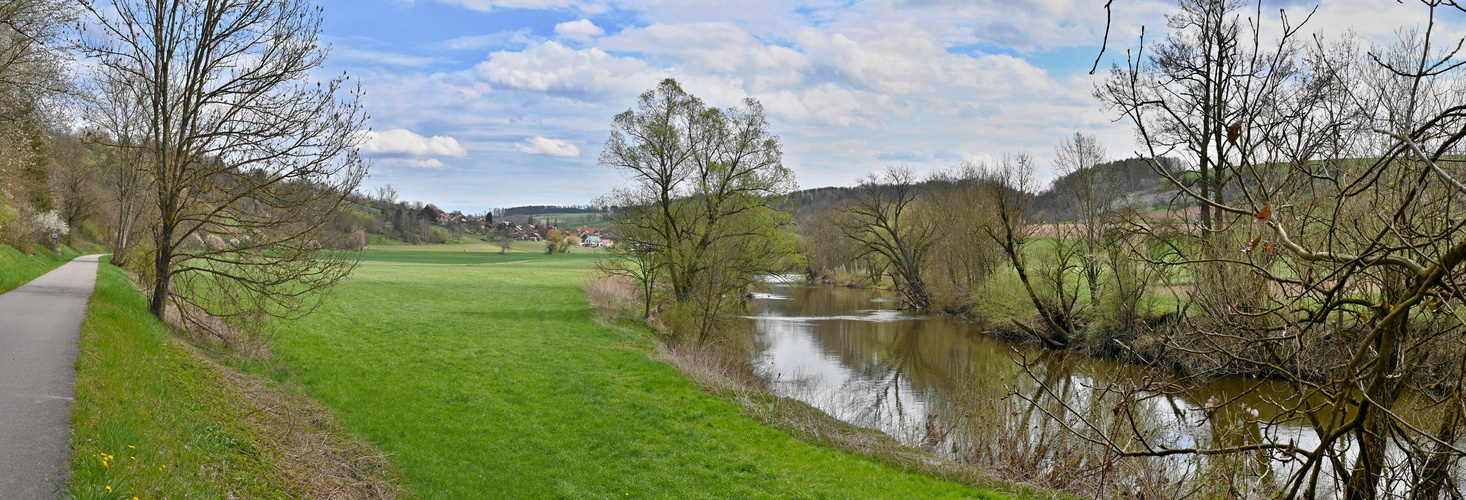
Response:
[{"label": "tree with fresh light-green leaves on the river's left bank", "polygon": [[699,342],[736,292],[789,267],[778,202],[795,179],[756,100],[715,109],[666,79],[616,116],[600,161],[630,180],[603,201],[617,207],[610,268],[648,295],[666,286]]}]

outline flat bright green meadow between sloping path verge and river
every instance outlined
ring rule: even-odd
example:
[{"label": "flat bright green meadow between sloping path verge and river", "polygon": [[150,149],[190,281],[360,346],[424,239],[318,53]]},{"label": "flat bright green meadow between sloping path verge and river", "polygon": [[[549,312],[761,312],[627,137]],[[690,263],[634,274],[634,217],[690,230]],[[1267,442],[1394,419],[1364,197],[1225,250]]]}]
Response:
[{"label": "flat bright green meadow between sloping path verge and river", "polygon": [[374,249],[276,352],[424,499],[998,497],[740,415],[592,321],[592,257]]}]

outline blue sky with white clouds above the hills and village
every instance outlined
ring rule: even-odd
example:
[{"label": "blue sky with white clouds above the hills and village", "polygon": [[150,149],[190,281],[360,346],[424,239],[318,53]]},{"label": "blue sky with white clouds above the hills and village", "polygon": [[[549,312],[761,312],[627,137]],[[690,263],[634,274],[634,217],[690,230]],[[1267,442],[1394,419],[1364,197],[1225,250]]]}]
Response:
[{"label": "blue sky with white clouds above the hills and village", "polygon": [[[626,183],[598,164],[611,117],[664,78],[711,106],[752,97],[800,188],[850,186],[888,166],[931,173],[1010,152],[1039,160],[1075,132],[1111,158],[1132,129],[1092,89],[1165,32],[1174,1],[1116,0],[321,0],[331,54],[365,95],[362,191],[482,213],[591,204]],[[1268,1],[1297,22],[1312,3]],[[1245,15],[1258,12],[1255,3]],[[1396,0],[1318,6],[1309,29],[1388,43],[1426,10]],[[1447,29],[1466,34],[1462,15]]]}]

